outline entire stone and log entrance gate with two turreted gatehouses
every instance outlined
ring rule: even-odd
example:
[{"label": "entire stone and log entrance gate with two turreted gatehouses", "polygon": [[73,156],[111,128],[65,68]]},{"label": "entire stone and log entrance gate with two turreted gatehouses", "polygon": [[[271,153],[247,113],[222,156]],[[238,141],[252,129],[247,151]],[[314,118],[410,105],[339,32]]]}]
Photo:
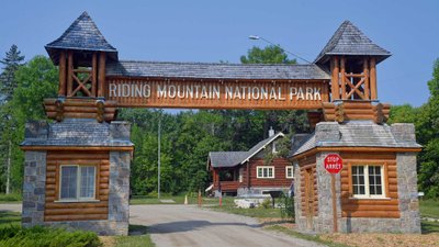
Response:
[{"label": "entire stone and log entrance gate with two turreted gatehouses", "polygon": [[[117,108],[308,110],[315,132],[296,135],[295,210],[302,229],[419,232],[412,124],[389,126],[376,64],[391,54],[349,21],[313,64],[233,65],[120,60],[85,12],[46,45],[59,66],[58,97],[44,100],[53,123],[26,125],[23,225],[65,225],[127,234],[130,124]],[[336,176],[322,160],[339,154]],[[374,226],[374,225],[379,225]]]}]

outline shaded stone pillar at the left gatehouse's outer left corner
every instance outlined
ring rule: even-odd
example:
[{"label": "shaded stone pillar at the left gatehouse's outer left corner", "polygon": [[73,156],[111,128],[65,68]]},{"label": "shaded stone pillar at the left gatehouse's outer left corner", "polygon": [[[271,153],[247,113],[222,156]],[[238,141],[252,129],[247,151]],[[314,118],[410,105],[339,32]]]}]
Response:
[{"label": "shaded stone pillar at the left gatehouse's outer left corner", "polygon": [[44,224],[46,189],[46,151],[25,151],[22,224]]}]

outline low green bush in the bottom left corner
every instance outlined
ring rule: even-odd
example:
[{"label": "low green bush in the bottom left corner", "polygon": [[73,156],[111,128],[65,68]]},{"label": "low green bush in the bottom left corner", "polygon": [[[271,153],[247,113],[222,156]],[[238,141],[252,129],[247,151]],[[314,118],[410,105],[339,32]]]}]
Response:
[{"label": "low green bush in the bottom left corner", "polygon": [[5,226],[0,228],[0,246],[23,247],[94,247],[102,246],[95,233],[34,226]]}]

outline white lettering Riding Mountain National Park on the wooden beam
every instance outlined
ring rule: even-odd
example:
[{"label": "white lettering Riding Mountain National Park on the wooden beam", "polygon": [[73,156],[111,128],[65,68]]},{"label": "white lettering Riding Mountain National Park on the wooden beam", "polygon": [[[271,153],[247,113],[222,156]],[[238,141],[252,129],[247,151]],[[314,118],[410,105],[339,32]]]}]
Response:
[{"label": "white lettering Riding Mountain National Park on the wooden beam", "polygon": [[[284,91],[288,89],[288,91]],[[219,100],[270,100],[270,101],[320,101],[319,87],[247,87],[223,85],[177,85],[169,82],[110,82],[110,98],[150,98],[153,91],[157,99],[207,99]]]}]

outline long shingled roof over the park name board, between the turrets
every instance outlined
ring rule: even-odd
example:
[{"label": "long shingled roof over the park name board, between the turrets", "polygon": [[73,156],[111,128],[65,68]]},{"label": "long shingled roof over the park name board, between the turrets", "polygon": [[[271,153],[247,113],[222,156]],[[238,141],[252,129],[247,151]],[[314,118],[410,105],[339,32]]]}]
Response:
[{"label": "long shingled roof over the park name board, between the turrets", "polygon": [[317,65],[213,64],[173,61],[110,63],[106,76],[214,79],[330,79]]}]

